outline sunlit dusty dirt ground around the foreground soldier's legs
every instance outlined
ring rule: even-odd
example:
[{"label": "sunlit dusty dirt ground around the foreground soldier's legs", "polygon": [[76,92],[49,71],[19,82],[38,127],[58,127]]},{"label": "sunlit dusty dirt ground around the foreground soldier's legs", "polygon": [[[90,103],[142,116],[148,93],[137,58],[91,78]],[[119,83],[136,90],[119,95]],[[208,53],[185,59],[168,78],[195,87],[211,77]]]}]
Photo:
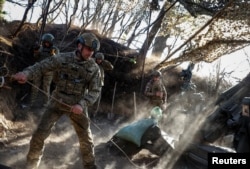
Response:
[{"label": "sunlit dusty dirt ground around the foreground soldier's legs", "polygon": [[[16,110],[23,119],[17,119],[12,123],[12,128],[5,133],[0,145],[0,164],[12,169],[23,169],[26,154],[29,149],[31,134],[44,111],[44,108],[32,111]],[[118,118],[119,119],[119,118]],[[91,120],[91,130],[95,143],[97,164],[102,169],[131,169],[141,166],[152,168],[152,164],[159,157],[147,150],[142,150],[133,159],[125,155],[115,155],[109,152],[107,141],[114,135],[117,129],[124,125],[116,120],[110,121],[106,115],[99,115]],[[70,121],[63,116],[54,126],[51,135],[46,140],[46,147],[39,169],[81,169],[82,160],[79,153],[78,138]]]}]

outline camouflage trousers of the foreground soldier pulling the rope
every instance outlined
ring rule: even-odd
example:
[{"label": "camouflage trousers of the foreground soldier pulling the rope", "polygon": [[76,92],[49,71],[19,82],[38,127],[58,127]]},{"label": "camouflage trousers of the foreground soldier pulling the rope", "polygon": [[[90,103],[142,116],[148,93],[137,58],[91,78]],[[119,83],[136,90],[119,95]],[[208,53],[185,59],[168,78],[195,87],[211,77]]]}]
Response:
[{"label": "camouflage trousers of the foreground soldier pulling the rope", "polygon": [[44,112],[37,130],[32,135],[30,148],[27,154],[27,168],[36,168],[39,166],[40,159],[43,155],[44,141],[50,135],[51,128],[56,121],[63,115],[70,118],[76,134],[79,139],[80,152],[85,168],[95,166],[94,144],[90,123],[87,115],[87,108],[81,115],[72,114],[68,107],[53,100],[50,101],[47,110]]}]

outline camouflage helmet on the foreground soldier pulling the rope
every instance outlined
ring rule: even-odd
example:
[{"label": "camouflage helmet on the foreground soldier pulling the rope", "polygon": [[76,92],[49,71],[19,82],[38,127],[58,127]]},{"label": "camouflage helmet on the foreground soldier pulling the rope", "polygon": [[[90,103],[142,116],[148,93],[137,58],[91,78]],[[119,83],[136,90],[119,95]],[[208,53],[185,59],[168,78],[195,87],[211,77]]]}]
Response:
[{"label": "camouflage helmet on the foreground soldier pulling the rope", "polygon": [[98,51],[100,48],[100,42],[93,33],[83,33],[77,38],[76,43],[81,43],[84,46],[92,48],[94,51]]}]

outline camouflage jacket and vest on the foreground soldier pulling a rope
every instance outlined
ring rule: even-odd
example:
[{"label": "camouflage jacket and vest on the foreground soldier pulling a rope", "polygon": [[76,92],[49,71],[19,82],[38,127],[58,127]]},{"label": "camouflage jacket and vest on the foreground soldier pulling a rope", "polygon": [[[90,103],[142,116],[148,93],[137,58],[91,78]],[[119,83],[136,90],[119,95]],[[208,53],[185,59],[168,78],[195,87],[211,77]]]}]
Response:
[{"label": "camouflage jacket and vest on the foreground soldier pulling a rope", "polygon": [[75,52],[52,56],[23,72],[29,80],[46,72],[57,72],[56,89],[53,97],[69,104],[82,107],[92,105],[101,91],[100,69],[93,59],[81,60]]}]

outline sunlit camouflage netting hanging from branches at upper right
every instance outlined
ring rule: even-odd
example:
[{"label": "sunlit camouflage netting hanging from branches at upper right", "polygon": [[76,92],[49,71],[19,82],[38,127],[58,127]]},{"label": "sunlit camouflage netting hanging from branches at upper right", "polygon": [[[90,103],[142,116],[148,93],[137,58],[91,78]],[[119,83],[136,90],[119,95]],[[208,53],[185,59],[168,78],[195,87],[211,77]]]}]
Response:
[{"label": "sunlit camouflage netting hanging from branches at upper right", "polygon": [[249,15],[250,1],[231,0],[213,16],[210,24],[205,27],[205,33],[203,29],[202,33],[194,36],[191,48],[186,49],[178,58],[163,61],[157,68],[190,60],[211,63],[225,54],[250,45]]}]

